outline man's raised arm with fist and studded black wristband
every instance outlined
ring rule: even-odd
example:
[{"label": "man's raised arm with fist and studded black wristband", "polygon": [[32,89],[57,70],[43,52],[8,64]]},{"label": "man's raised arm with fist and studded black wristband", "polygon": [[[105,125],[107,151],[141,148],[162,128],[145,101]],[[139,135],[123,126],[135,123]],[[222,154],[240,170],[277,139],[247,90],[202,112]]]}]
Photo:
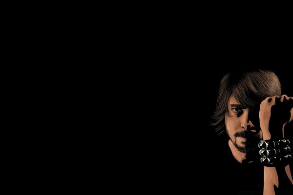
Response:
[{"label": "man's raised arm with fist and studded black wristband", "polygon": [[289,182],[289,180],[293,184],[290,166],[288,165],[291,154],[290,141],[287,139],[290,136],[285,132],[285,126],[288,127],[288,123],[292,123],[293,120],[292,103],[292,97],[282,95],[282,97],[268,97],[260,104],[260,128],[263,140],[265,140],[262,144],[266,144],[260,151],[260,153],[264,152],[261,160],[265,162],[264,195],[274,195],[274,186],[278,188],[279,181],[281,185],[284,181]]}]

